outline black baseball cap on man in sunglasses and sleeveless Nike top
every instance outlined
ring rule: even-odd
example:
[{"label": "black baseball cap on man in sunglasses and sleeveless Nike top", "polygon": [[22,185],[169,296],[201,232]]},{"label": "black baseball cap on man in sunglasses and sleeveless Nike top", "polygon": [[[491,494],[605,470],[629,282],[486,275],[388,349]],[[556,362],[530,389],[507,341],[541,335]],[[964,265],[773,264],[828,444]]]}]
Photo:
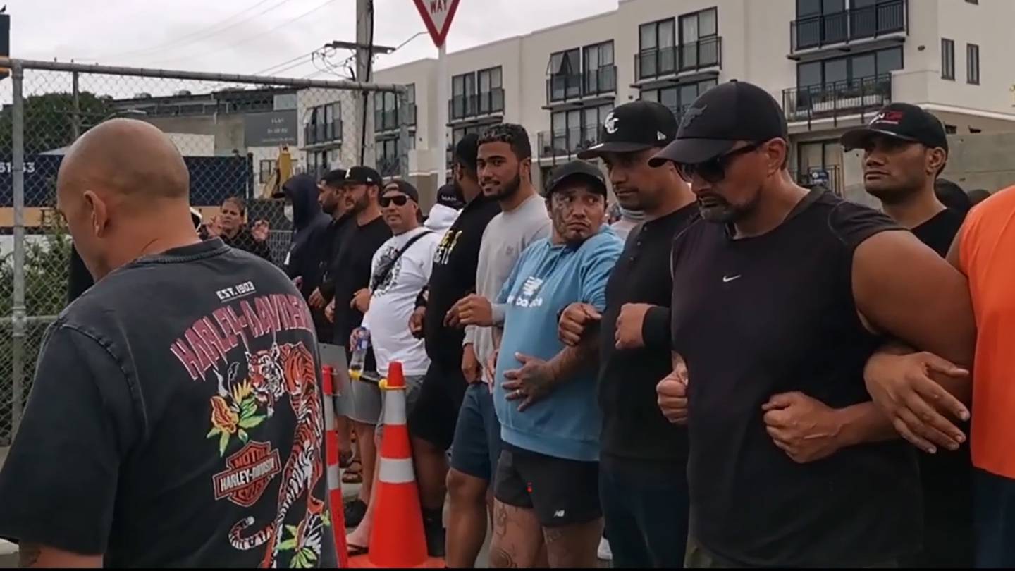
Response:
[{"label": "black baseball cap on man in sunglasses and sleeveless Nike top", "polygon": [[698,96],[684,111],[676,139],[649,164],[696,165],[726,154],[737,141],[789,141],[786,115],[768,91],[736,79]]}]

